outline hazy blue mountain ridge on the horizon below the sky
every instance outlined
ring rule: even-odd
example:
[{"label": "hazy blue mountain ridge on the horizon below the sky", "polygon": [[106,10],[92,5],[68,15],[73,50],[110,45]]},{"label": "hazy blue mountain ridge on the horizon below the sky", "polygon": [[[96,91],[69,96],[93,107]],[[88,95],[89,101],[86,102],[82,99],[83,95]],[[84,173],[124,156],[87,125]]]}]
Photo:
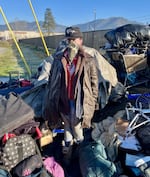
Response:
[{"label": "hazy blue mountain ridge on the horizon below the sky", "polygon": [[[93,20],[84,24],[76,24],[74,26],[80,27],[80,29],[83,32],[85,32],[85,31],[93,31],[93,30],[113,29],[129,23],[138,23],[138,22],[130,21],[122,17],[111,17],[107,19]],[[15,21],[9,24],[11,28],[16,31],[38,31],[36,22]],[[41,29],[42,29],[42,24],[43,22],[40,21],[39,25],[41,26]],[[54,32],[64,32],[65,28],[66,26],[64,25],[56,24],[56,28]],[[7,30],[7,26],[0,25],[0,31],[4,31],[4,30]]]}]

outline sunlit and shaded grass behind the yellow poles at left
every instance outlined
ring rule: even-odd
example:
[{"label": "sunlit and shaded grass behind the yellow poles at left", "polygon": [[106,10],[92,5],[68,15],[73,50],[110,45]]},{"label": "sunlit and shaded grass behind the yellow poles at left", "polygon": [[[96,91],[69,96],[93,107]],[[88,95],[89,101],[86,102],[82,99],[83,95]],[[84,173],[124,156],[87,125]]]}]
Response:
[{"label": "sunlit and shaded grass behind the yellow poles at left", "polygon": [[[18,43],[32,75],[37,72],[37,67],[47,58],[44,48]],[[52,54],[54,50],[50,50]],[[0,76],[8,76],[9,72],[19,71],[22,76],[27,76],[27,69],[20,53],[13,42],[0,42]]]}]

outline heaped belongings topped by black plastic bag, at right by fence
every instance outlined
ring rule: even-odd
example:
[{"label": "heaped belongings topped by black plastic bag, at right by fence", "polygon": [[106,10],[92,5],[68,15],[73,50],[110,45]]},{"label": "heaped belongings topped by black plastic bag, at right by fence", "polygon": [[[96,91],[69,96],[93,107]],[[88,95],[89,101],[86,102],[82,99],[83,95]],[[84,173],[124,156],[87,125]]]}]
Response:
[{"label": "heaped belongings topped by black plastic bag, at right by fence", "polygon": [[148,82],[150,26],[127,24],[104,36],[108,42],[100,51],[116,68],[119,81],[125,86]]}]

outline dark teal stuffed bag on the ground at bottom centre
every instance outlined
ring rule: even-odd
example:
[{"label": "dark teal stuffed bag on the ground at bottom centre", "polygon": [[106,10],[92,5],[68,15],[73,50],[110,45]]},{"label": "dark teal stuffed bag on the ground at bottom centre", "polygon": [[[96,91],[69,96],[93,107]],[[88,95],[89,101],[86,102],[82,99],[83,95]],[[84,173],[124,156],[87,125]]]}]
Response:
[{"label": "dark teal stuffed bag on the ground at bottom centre", "polygon": [[101,141],[82,142],[79,147],[82,177],[117,177],[117,169],[109,161]]}]

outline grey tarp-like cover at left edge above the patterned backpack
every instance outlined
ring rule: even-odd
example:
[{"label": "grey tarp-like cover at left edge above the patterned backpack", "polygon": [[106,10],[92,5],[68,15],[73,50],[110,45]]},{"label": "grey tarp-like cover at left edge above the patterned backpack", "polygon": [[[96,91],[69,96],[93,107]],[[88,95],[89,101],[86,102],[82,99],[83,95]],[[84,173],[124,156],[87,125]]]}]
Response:
[{"label": "grey tarp-like cover at left edge above the patterned backpack", "polygon": [[20,96],[11,92],[0,97],[0,137],[33,118],[33,110]]}]

